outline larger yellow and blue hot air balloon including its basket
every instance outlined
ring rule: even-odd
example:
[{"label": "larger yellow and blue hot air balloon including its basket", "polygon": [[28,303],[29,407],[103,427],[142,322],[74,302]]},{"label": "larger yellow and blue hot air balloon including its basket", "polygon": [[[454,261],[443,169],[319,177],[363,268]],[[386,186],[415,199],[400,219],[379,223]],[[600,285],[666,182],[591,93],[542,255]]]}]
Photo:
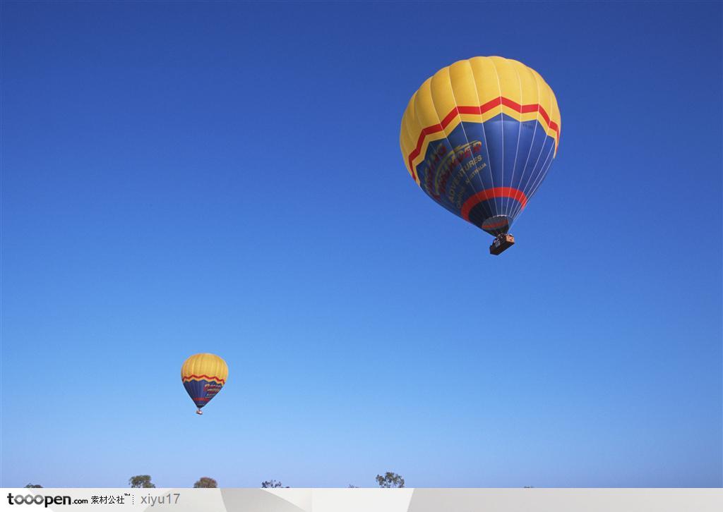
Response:
[{"label": "larger yellow and blue hot air balloon including its basket", "polygon": [[510,226],[557,154],[560,109],[534,69],[474,57],[437,71],[409,100],[399,135],[407,170],[429,197],[515,243]]}]

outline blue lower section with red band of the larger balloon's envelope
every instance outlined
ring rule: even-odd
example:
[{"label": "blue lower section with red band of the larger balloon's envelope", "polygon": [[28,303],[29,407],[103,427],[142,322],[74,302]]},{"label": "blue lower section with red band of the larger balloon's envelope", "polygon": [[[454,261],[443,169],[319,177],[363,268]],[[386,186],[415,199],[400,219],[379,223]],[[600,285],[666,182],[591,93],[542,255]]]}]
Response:
[{"label": "blue lower section with red band of the larger balloon's envelope", "polygon": [[427,146],[416,165],[422,189],[438,204],[487,233],[507,233],[544,180],[555,138],[539,121],[502,114],[463,121]]}]

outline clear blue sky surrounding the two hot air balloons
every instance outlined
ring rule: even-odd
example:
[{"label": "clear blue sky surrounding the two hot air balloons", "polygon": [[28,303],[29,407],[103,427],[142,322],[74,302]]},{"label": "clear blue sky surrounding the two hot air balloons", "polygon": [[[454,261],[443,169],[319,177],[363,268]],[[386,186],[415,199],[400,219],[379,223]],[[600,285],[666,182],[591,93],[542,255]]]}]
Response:
[{"label": "clear blue sky surrounding the two hot air balloons", "polygon": [[[0,485],[723,485],[721,21],[4,2]],[[497,258],[398,145],[477,55],[562,112]]]}]

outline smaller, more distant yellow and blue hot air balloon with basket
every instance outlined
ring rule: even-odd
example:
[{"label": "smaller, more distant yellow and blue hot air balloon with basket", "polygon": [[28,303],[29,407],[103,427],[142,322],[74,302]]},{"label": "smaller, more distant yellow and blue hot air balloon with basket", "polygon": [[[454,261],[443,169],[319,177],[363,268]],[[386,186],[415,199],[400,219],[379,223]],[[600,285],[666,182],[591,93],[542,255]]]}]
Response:
[{"label": "smaller, more distant yellow and blue hot air balloon with basket", "polygon": [[196,413],[210,402],[228,378],[226,361],[214,354],[194,354],[181,366],[181,381],[189,396],[196,404]]}]

